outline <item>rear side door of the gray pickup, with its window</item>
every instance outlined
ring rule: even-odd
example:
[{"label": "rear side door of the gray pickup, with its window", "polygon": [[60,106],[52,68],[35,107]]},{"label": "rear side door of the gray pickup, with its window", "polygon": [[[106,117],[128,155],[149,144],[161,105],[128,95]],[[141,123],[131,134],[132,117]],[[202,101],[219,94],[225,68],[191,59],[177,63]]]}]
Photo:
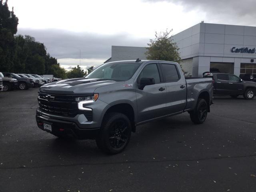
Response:
[{"label": "rear side door of the gray pickup, with its window", "polygon": [[186,107],[186,80],[176,64],[160,63],[166,85],[167,114],[181,112]]}]

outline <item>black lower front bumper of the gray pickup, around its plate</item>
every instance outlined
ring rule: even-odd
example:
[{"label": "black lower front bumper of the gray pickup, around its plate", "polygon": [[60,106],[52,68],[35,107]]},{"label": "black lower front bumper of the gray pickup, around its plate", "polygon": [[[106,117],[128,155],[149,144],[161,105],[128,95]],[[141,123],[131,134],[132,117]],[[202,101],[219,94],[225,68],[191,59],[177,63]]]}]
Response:
[{"label": "black lower front bumper of the gray pickup, around its plate", "polygon": [[100,130],[100,128],[83,129],[78,127],[76,122],[49,118],[38,112],[36,113],[36,122],[38,128],[42,130],[44,130],[44,123],[50,124],[52,126],[52,132],[44,130],[46,132],[58,136],[69,136],[78,139],[95,139]]}]

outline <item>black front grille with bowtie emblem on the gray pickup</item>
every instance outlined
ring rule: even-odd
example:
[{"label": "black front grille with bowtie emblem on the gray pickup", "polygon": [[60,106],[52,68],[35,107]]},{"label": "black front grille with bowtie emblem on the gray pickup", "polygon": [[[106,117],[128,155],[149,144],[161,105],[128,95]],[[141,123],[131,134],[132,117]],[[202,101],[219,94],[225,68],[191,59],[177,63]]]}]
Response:
[{"label": "black front grille with bowtie emblem on the gray pickup", "polygon": [[88,121],[92,121],[92,111],[82,111],[78,109],[76,96],[38,94],[39,108],[42,112],[58,116],[74,117],[77,114],[84,114]]}]

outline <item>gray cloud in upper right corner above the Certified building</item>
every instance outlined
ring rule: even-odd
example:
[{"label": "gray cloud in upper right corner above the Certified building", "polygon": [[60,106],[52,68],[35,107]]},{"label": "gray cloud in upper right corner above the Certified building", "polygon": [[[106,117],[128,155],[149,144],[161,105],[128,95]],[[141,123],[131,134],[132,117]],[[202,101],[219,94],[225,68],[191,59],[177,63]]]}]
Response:
[{"label": "gray cloud in upper right corner above the Certified building", "polygon": [[256,25],[255,0],[144,0],[144,2],[172,2],[186,11],[206,12],[206,22]]}]

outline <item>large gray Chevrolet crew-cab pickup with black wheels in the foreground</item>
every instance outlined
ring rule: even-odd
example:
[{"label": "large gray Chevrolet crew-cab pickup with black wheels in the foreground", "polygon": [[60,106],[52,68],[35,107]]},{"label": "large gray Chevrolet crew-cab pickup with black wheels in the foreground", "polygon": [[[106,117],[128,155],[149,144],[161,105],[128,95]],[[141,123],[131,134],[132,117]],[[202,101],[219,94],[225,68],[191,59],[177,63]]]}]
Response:
[{"label": "large gray Chevrolet crew-cab pickup with black wheels in the foreground", "polygon": [[116,154],[136,126],[188,112],[206,120],[213,96],[212,78],[184,78],[176,62],[118,61],[103,64],[86,78],[62,80],[39,89],[36,121],[59,138],[96,139]]}]

